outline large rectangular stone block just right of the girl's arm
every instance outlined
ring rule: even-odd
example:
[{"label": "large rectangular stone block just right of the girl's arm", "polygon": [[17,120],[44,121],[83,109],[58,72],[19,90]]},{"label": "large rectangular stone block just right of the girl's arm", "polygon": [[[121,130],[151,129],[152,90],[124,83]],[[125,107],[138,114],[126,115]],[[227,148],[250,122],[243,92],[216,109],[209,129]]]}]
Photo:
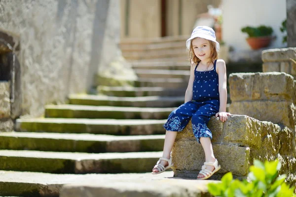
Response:
[{"label": "large rectangular stone block just right of the girl's arm", "polygon": [[292,101],[294,78],[286,73],[235,73],[229,76],[230,99],[235,101]]}]

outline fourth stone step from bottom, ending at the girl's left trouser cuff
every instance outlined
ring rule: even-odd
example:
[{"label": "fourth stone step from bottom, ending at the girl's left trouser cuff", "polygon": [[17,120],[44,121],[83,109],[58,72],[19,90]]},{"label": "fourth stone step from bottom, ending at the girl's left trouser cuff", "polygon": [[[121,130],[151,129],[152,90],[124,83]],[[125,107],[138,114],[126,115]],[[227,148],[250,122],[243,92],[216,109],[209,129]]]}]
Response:
[{"label": "fourth stone step from bottom, ending at the girl's left trouser cuff", "polygon": [[110,135],[165,134],[166,119],[24,118],[16,130],[24,132],[94,133]]}]

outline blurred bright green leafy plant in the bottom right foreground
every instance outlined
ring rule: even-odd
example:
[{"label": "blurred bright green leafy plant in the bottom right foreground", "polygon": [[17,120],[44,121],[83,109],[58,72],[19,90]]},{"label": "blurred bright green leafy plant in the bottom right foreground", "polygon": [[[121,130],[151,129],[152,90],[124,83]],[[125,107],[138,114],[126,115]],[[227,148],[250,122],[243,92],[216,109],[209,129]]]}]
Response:
[{"label": "blurred bright green leafy plant in the bottom right foreground", "polygon": [[220,183],[209,183],[210,194],[219,197],[296,197],[295,187],[289,188],[285,183],[286,175],[278,176],[281,163],[278,160],[255,160],[247,180],[233,180],[232,173],[225,174]]}]

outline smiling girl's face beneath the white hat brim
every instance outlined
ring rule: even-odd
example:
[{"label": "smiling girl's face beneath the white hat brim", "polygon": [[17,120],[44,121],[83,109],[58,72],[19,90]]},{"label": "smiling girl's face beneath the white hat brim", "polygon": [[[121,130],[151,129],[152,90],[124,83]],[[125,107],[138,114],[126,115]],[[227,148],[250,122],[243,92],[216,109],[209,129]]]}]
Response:
[{"label": "smiling girl's face beneath the white hat brim", "polygon": [[192,40],[192,47],[194,54],[201,61],[207,60],[211,56],[211,46],[210,42],[207,39],[195,38]]}]

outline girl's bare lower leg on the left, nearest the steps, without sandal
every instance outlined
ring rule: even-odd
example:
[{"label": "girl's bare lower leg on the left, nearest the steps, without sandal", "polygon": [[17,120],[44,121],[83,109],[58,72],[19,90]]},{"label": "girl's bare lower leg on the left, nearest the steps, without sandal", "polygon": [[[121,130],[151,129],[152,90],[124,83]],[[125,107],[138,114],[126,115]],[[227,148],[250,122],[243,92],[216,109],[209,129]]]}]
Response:
[{"label": "girl's bare lower leg on the left, nearest the steps, without sandal", "polygon": [[[169,159],[171,157],[171,151],[177,136],[177,131],[166,131],[165,132],[165,138],[164,138],[164,145],[163,145],[163,153],[162,157]],[[167,166],[168,162],[165,160],[161,160],[160,164],[163,166]],[[158,172],[157,168],[153,168],[152,172]]]}]

